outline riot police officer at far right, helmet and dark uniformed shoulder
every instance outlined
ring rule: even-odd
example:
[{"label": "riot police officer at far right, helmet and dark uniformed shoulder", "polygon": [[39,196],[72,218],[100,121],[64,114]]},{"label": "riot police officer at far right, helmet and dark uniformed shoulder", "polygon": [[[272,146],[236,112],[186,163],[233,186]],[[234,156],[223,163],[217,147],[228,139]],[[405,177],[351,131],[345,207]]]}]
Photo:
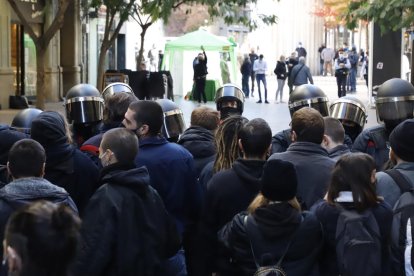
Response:
[{"label": "riot police officer at far right, helmet and dark uniformed shoulder", "polygon": [[414,113],[414,86],[403,79],[384,82],[377,92],[377,121],[380,125],[365,129],[358,135],[352,151],[370,154],[377,171],[389,158],[389,135],[402,121],[412,119]]}]

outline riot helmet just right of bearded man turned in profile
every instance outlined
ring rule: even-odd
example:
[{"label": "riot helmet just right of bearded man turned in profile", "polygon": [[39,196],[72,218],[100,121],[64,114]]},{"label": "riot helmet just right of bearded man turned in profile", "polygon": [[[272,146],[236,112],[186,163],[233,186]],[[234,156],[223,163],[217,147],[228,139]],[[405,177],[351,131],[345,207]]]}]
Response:
[{"label": "riot helmet just right of bearded man turned in profile", "polygon": [[164,112],[164,123],[162,134],[170,142],[177,142],[180,135],[185,130],[183,112],[180,107],[168,99],[158,99],[157,103],[161,105]]}]

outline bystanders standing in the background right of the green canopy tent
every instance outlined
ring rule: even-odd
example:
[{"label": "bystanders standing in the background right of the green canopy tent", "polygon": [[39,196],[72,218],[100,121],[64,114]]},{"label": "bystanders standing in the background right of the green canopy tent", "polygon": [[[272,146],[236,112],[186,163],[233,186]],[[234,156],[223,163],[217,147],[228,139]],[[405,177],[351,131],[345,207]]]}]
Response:
[{"label": "bystanders standing in the background right of the green canopy tent", "polygon": [[[346,96],[346,93],[356,92],[356,82],[358,72],[361,77],[365,79],[368,86],[368,52],[364,52],[360,49],[357,53],[356,47],[353,46],[348,49],[346,43],[338,50],[326,47],[322,44],[318,49],[319,54],[319,75],[327,76],[328,72],[330,76],[335,76],[338,97]],[[295,51],[286,58],[281,55],[276,62],[276,66],[273,70],[277,79],[277,90],[275,94],[275,102],[281,103],[283,98],[283,89],[287,80],[289,87],[289,93],[292,93],[294,88],[302,84],[313,84],[312,74],[309,67],[306,65],[307,51],[299,42]],[[267,62],[264,60],[263,54],[257,55],[255,50],[252,49],[250,54],[246,54],[243,63],[240,67],[242,74],[242,89],[246,98],[253,96],[255,82],[259,92],[259,101],[262,103],[260,82],[263,83],[265,89],[265,103],[267,101]],[[249,87],[249,79],[251,80],[251,88]]]}]

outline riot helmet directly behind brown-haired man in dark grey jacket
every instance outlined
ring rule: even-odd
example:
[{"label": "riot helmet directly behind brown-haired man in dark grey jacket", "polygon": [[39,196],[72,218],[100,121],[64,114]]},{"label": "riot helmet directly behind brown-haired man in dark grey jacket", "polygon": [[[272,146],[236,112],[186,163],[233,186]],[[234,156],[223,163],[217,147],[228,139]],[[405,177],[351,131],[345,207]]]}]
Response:
[{"label": "riot helmet directly behind brown-haired man in dark grey jacket", "polygon": [[322,116],[329,116],[328,97],[325,93],[313,84],[302,84],[295,88],[289,96],[290,117],[295,111],[302,107],[311,107],[321,113]]}]

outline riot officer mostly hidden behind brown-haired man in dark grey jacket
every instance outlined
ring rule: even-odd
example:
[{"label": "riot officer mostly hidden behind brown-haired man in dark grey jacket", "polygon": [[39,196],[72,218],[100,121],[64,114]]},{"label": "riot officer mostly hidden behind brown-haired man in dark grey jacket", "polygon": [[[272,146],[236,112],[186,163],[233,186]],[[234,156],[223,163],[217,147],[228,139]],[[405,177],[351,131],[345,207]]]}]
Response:
[{"label": "riot officer mostly hidden behind brown-haired man in dark grey jacket", "polygon": [[[303,84],[295,88],[289,96],[290,116],[302,107],[311,107],[319,111],[322,116],[329,116],[328,97],[313,84]],[[290,128],[276,133],[272,137],[272,153],[284,152],[291,144]]]}]

